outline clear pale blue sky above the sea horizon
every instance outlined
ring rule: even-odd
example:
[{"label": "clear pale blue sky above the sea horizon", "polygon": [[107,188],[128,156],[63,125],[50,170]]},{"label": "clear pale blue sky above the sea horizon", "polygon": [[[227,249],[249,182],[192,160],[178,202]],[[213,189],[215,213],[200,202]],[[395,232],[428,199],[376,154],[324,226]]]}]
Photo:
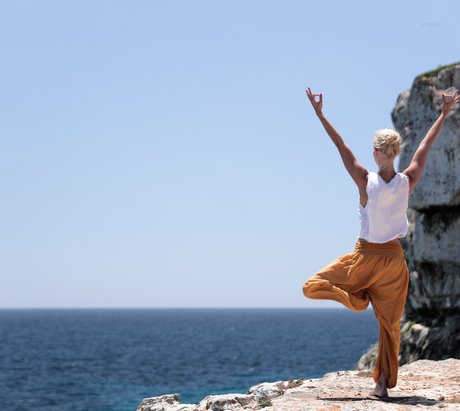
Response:
[{"label": "clear pale blue sky above the sea horizon", "polygon": [[366,167],[458,1],[0,2],[0,307],[338,307]]}]

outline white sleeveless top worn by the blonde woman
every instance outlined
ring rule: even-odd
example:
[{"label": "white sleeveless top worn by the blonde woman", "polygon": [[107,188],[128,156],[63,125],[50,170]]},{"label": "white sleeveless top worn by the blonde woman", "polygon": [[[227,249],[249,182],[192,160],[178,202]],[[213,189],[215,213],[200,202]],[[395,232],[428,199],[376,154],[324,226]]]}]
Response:
[{"label": "white sleeveless top worn by the blonde woman", "polygon": [[359,238],[371,243],[386,243],[404,237],[409,228],[406,215],[409,178],[403,173],[397,173],[391,181],[385,183],[378,173],[369,171],[366,192],[366,207],[359,203],[358,208],[361,222]]}]

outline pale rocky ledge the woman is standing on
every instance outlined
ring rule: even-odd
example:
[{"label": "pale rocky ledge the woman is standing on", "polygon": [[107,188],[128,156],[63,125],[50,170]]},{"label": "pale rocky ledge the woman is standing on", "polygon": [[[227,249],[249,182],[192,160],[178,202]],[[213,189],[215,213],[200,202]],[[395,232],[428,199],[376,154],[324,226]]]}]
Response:
[{"label": "pale rocky ledge the woman is standing on", "polygon": [[181,404],[179,394],[145,398],[137,411],[346,411],[460,409],[460,360],[418,360],[399,369],[389,397],[368,396],[370,370],[336,371],[322,378],[264,382],[245,394],[208,395],[198,404]]}]

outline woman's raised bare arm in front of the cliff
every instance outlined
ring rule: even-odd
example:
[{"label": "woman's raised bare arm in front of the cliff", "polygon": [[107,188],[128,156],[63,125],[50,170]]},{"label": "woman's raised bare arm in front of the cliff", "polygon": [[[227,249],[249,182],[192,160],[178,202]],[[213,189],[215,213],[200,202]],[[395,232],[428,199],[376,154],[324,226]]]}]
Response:
[{"label": "woman's raised bare arm in front of the cliff", "polygon": [[451,108],[460,101],[460,94],[458,90],[455,90],[452,96],[443,94],[442,101],[443,104],[441,114],[419,144],[409,166],[403,171],[403,173],[409,177],[409,193],[412,193],[413,189],[420,180],[420,177],[422,176],[428,153],[430,152],[431,146],[435,142],[439,132],[442,129],[447,114],[449,114]]}]

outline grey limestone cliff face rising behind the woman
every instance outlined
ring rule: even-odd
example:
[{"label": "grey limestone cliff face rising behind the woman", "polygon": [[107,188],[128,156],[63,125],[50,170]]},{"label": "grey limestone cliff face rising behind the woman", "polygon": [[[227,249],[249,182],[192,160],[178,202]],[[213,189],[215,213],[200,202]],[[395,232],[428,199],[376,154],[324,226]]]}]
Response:
[{"label": "grey limestone cliff face rising behind the woman", "polygon": [[[460,90],[460,63],[418,76],[391,113],[403,139],[400,171],[439,116],[443,92]],[[409,202],[404,248],[409,295],[401,321],[400,364],[460,358],[460,108],[454,106],[433,144]],[[373,366],[376,346],[357,368]]]}]

